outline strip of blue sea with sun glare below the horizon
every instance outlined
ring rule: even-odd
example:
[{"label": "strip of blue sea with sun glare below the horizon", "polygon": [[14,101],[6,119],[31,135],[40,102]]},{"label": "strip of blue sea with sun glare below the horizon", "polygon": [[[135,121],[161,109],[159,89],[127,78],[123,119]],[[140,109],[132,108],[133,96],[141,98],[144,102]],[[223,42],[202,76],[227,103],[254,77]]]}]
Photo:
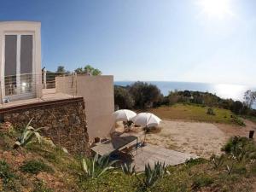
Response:
[{"label": "strip of blue sea with sun glare below the horizon", "polygon": [[[115,81],[114,84],[126,86],[133,84],[135,81]],[[256,90],[256,87],[250,87],[241,84],[206,84],[206,83],[191,83],[191,82],[173,82],[173,81],[146,81],[149,84],[155,84],[164,96],[167,96],[169,91],[173,90],[198,90],[210,92],[217,96],[227,99],[239,100],[242,102],[243,94],[246,90]],[[253,108],[256,108],[254,103]]]}]

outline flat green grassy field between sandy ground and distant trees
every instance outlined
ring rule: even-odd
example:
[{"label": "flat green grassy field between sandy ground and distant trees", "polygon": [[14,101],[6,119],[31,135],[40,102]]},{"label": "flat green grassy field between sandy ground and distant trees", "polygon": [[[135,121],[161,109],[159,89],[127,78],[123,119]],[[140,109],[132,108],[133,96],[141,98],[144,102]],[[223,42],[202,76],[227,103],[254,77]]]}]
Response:
[{"label": "flat green grassy field between sandy ground and distant trees", "polygon": [[207,114],[207,109],[208,107],[192,104],[175,104],[171,107],[151,108],[148,111],[162,119],[188,119],[212,123],[239,124],[240,119],[230,110],[213,108],[215,115],[210,115]]}]

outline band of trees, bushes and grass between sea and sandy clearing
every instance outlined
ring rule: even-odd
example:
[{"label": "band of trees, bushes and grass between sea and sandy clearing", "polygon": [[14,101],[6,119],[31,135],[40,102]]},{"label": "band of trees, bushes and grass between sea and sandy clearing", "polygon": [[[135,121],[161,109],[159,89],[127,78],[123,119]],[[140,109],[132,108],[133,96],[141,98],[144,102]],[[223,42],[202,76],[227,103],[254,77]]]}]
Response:
[{"label": "band of trees, bushes and grass between sea and sandy clearing", "polygon": [[139,81],[125,87],[114,86],[114,104],[119,109],[148,109],[162,119],[188,119],[240,126],[245,125],[240,117],[256,122],[256,110],[251,108],[255,96],[255,92],[247,90],[243,103],[191,90],[175,90],[163,96],[154,84]]}]

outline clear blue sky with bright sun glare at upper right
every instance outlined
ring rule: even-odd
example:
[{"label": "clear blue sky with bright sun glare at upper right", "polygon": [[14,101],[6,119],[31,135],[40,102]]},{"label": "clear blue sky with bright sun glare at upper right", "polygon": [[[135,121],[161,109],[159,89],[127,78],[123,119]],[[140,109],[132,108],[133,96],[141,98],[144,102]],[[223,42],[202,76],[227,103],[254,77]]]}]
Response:
[{"label": "clear blue sky with bright sun glare at upper right", "polygon": [[[42,66],[115,80],[255,85],[256,1],[1,0],[0,20],[42,22]],[[214,1],[214,0],[213,0]]]}]

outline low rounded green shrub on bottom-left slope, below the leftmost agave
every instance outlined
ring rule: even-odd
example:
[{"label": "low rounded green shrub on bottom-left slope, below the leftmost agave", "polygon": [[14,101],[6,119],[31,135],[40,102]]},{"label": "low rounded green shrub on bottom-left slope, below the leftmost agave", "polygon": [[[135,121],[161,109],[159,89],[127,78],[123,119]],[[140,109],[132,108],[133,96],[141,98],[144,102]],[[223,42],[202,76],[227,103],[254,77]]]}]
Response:
[{"label": "low rounded green shrub on bottom-left slope, below the leftmost agave", "polygon": [[53,169],[46,165],[42,160],[28,160],[20,166],[22,172],[38,174],[38,172],[54,172]]}]

